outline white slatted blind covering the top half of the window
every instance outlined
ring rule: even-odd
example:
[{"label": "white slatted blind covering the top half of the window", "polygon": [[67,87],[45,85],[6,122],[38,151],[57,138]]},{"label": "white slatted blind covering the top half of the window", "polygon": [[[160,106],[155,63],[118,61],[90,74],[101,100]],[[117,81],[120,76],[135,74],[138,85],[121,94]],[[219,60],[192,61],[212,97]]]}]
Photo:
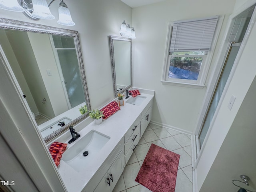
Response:
[{"label": "white slatted blind covering the top half of the window", "polygon": [[170,43],[173,51],[209,51],[218,16],[202,20],[174,22]]}]

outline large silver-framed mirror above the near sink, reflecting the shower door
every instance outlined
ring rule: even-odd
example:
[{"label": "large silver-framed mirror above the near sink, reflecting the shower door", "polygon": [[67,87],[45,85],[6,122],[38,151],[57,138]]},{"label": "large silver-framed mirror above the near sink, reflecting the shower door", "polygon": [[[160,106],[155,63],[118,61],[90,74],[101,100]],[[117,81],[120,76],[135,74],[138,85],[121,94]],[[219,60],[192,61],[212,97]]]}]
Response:
[{"label": "large silver-framed mirror above the near sink, reflecting the shower door", "polygon": [[45,142],[88,116],[77,31],[0,18],[0,36],[7,67]]}]

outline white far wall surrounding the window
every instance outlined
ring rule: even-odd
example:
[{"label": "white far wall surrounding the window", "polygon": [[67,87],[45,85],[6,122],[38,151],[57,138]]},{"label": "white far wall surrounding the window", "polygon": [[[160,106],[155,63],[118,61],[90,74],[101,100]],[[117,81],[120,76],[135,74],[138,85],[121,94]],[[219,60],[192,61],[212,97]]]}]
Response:
[{"label": "white far wall surrounding the window", "polygon": [[[220,6],[221,5],[221,6]],[[155,90],[152,121],[166,126],[194,132],[195,124],[206,88],[187,88],[162,84],[162,71],[168,31],[168,22],[232,13],[234,0],[166,0],[132,10],[132,26],[136,30],[133,40],[133,86]],[[224,19],[223,26],[226,25]],[[220,48],[220,32],[210,72]],[[208,79],[206,81],[206,86]]]}]

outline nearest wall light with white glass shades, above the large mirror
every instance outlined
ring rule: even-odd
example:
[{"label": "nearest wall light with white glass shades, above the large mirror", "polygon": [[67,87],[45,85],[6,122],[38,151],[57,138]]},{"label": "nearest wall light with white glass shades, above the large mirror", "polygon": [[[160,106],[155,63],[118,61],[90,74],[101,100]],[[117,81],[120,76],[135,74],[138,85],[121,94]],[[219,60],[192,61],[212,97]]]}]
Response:
[{"label": "nearest wall light with white glass shades, above the large mirror", "polygon": [[[55,19],[55,16],[50,12],[49,6],[54,2],[51,0],[47,4],[46,0],[20,0],[20,4],[17,0],[0,0],[0,8],[10,11],[23,12],[28,18],[32,20],[39,19]],[[73,26],[73,22],[68,6],[60,0],[59,8],[59,20],[58,24]]]}]

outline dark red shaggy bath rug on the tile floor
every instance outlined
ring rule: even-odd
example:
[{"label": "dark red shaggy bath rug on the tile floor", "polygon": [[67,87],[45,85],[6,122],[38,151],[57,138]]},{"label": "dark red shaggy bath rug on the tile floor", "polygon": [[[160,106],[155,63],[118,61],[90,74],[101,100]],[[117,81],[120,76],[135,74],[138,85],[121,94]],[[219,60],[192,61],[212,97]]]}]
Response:
[{"label": "dark red shaggy bath rug on the tile floor", "polygon": [[174,192],[179,160],[179,154],[151,144],[135,181],[152,192]]}]

